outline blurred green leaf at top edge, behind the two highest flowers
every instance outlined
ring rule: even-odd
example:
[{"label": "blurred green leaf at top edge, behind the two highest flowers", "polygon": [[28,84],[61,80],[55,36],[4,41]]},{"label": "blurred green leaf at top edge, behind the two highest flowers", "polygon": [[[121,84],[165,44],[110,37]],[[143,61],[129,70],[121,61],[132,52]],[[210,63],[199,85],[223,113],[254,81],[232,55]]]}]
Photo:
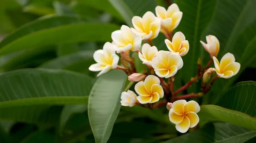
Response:
[{"label": "blurred green leaf at top edge, behind the two highest flowers", "polygon": [[126,24],[132,27],[132,17],[142,17],[147,11],[154,11],[157,6],[154,0],[108,0],[122,15]]}]

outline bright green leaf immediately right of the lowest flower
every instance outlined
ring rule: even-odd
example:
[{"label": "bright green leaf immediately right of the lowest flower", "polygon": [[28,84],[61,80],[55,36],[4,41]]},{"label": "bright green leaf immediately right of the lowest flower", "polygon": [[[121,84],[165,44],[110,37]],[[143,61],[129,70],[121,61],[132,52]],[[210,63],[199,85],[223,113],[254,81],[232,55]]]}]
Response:
[{"label": "bright green leaf immediately right of the lowest flower", "polygon": [[198,113],[198,116],[203,123],[208,121],[222,121],[256,130],[256,118],[239,111],[226,109],[216,105],[201,105],[201,111]]}]

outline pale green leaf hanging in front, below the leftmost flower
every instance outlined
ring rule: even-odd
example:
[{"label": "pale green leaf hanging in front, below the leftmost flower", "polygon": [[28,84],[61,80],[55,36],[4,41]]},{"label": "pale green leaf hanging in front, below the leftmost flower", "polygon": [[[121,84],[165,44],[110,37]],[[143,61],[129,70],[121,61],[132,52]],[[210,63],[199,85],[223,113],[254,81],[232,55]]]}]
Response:
[{"label": "pale green leaf hanging in front, below the leftmost flower", "polygon": [[120,95],[127,76],[113,70],[95,82],[89,95],[88,117],[96,143],[107,143],[121,107]]}]

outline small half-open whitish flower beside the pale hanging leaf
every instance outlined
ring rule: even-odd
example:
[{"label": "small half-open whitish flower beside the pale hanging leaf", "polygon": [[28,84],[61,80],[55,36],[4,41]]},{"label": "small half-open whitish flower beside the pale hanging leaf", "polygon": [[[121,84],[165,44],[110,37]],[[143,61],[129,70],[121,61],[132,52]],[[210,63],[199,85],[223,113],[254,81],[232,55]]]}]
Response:
[{"label": "small half-open whitish flower beside the pale hanging leaf", "polygon": [[137,95],[128,90],[127,92],[122,92],[121,94],[121,104],[122,106],[133,107],[137,103]]}]

